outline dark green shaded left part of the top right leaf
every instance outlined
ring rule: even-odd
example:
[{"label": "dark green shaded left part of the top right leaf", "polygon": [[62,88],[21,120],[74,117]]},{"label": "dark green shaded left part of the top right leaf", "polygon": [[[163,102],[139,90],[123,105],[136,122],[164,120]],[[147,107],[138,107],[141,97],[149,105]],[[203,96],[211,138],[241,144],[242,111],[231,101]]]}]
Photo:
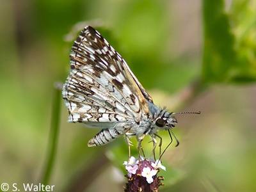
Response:
[{"label": "dark green shaded left part of the top right leaf", "polygon": [[227,81],[228,72],[236,65],[234,36],[222,0],[203,1],[204,55],[203,79]]}]

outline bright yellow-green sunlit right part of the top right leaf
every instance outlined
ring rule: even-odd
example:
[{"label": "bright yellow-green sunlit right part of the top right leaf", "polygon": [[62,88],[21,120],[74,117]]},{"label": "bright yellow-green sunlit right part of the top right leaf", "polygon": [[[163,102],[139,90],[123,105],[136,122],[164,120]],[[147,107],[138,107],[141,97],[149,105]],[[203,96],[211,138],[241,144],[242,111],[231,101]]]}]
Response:
[{"label": "bright yellow-green sunlit right part of the top right leaf", "polygon": [[236,0],[230,9],[230,21],[235,36],[238,66],[234,81],[256,80],[256,10],[255,1]]}]

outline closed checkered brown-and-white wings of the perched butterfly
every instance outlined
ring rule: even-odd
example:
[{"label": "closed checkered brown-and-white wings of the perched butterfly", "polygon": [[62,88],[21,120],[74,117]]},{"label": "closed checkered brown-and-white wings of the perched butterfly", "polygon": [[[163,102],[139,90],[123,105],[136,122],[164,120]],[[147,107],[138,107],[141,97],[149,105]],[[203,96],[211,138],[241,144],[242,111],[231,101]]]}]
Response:
[{"label": "closed checkered brown-and-white wings of the perched butterfly", "polygon": [[[70,122],[140,120],[152,101],[124,59],[92,27],[77,37],[63,86]],[[145,99],[147,98],[147,99]]]}]

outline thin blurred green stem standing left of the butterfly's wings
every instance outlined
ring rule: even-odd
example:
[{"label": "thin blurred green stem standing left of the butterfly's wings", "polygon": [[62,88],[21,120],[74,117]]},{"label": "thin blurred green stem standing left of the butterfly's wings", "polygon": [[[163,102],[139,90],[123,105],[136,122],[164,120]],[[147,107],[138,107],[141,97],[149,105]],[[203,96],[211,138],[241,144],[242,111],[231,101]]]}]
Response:
[{"label": "thin blurred green stem standing left of the butterfly's wings", "polygon": [[44,165],[44,173],[41,177],[43,184],[48,184],[51,179],[54,160],[56,157],[56,148],[58,144],[58,134],[60,129],[60,109],[61,109],[61,89],[58,84],[54,86],[52,94],[52,115],[51,115],[51,130],[49,133],[49,142],[47,148],[47,156]]}]

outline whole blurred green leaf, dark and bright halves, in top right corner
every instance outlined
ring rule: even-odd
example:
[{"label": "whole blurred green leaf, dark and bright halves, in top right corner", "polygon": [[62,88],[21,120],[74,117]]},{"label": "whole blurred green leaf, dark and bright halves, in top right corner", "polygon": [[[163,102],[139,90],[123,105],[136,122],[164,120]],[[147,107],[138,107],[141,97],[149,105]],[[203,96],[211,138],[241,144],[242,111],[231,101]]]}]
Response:
[{"label": "whole blurred green leaf, dark and bright halves, in top right corner", "polygon": [[255,81],[256,12],[252,2],[234,1],[230,14],[225,13],[223,0],[203,2],[204,81]]}]

